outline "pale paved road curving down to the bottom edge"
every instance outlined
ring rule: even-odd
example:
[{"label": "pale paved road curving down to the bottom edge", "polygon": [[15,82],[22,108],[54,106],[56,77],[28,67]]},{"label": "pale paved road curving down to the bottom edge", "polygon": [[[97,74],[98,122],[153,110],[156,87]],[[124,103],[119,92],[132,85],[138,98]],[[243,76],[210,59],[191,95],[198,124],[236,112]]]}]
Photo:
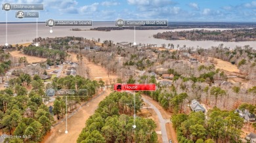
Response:
[{"label": "pale paved road curving down to the bottom edge", "polygon": [[168,143],[169,141],[168,141],[168,136],[167,136],[167,132],[166,132],[166,128],[165,128],[166,120],[163,119],[163,116],[161,116],[160,110],[158,110],[158,108],[156,108],[156,106],[154,106],[154,104],[150,103],[150,101],[148,101],[144,97],[142,97],[142,99],[145,103],[149,104],[150,107],[152,109],[154,109],[156,114],[158,115],[158,119],[159,119],[160,127],[161,127],[161,139],[163,140],[163,143]]}]

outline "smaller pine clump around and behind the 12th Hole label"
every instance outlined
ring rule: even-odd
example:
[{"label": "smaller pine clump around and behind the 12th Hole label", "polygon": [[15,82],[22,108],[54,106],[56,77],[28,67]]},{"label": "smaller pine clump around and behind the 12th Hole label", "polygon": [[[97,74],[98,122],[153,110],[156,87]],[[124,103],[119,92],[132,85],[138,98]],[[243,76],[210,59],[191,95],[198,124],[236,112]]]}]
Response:
[{"label": "smaller pine clump around and behind the 12th Hole label", "polygon": [[[66,114],[66,106],[68,112],[72,112],[77,108],[77,104],[91,99],[100,89],[100,84],[96,80],[89,80],[81,76],[66,76],[64,78],[53,78],[52,84],[47,84],[47,89],[86,89],[81,91],[79,96],[67,97],[68,104],[66,105],[66,97],[56,97],[53,103],[53,113],[57,119],[63,118]],[[78,93],[78,92],[77,92]]]}]

